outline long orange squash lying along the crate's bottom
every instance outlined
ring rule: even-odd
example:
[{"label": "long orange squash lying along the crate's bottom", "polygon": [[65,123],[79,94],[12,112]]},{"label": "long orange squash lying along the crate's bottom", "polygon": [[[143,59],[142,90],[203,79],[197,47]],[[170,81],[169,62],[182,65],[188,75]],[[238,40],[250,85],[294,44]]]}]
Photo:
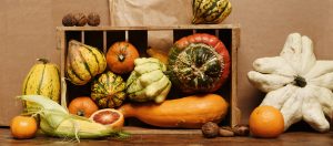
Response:
[{"label": "long orange squash lying along the crate's bottom", "polygon": [[191,95],[162,104],[125,104],[119,108],[124,117],[159,127],[201,128],[206,122],[219,123],[228,113],[228,103],[216,94]]}]

